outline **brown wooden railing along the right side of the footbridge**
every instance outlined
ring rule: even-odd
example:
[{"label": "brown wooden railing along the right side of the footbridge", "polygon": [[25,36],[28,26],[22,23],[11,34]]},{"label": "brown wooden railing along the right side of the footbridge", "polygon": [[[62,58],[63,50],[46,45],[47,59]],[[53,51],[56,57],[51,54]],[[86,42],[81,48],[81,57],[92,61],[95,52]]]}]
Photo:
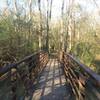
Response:
[{"label": "brown wooden railing along the right side of the footbridge", "polygon": [[70,54],[63,53],[62,64],[76,100],[100,100],[100,75]]}]

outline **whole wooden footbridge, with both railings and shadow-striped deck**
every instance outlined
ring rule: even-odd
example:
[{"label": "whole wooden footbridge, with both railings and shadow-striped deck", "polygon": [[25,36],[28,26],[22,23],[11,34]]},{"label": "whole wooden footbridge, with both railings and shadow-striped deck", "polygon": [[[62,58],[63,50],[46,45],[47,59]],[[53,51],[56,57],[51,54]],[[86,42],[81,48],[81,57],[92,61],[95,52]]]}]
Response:
[{"label": "whole wooden footbridge, with both railings and shadow-striped deck", "polygon": [[0,100],[100,100],[100,75],[70,54],[63,65],[50,57],[40,51],[1,67]]}]

